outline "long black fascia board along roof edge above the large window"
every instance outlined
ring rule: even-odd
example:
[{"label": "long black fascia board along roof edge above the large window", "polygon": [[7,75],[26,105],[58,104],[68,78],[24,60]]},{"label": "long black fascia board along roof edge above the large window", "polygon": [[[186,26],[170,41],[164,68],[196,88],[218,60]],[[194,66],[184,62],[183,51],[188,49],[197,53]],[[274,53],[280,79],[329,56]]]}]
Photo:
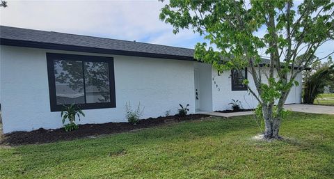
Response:
[{"label": "long black fascia board along roof edge above the large window", "polygon": [[88,52],[94,54],[113,54],[113,55],[123,55],[123,56],[141,56],[148,58],[157,58],[157,59],[174,59],[182,61],[196,61],[191,56],[177,56],[169,54],[154,54],[146,52],[133,52],[125,50],[116,50],[116,49],[102,49],[95,47],[82,47],[77,45],[63,45],[47,42],[34,42],[28,40],[13,40],[7,38],[0,38],[0,45],[15,46],[15,47],[31,47],[38,49],[57,49],[73,52]]}]

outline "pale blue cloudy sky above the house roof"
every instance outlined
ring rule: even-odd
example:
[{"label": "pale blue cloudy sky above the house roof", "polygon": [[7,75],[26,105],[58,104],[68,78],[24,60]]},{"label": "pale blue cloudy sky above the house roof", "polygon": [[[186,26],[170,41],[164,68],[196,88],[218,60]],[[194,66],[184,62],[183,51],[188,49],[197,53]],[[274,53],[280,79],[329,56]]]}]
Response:
[{"label": "pale blue cloudy sky above the house roof", "polygon": [[[197,42],[204,41],[191,30],[180,30],[175,35],[170,24],[159,20],[160,10],[166,2],[158,0],[7,1],[8,7],[0,10],[0,24],[4,26],[186,48],[194,48]],[[258,35],[264,33],[260,29]],[[318,49],[317,56],[333,51],[334,42],[326,42]]]}]

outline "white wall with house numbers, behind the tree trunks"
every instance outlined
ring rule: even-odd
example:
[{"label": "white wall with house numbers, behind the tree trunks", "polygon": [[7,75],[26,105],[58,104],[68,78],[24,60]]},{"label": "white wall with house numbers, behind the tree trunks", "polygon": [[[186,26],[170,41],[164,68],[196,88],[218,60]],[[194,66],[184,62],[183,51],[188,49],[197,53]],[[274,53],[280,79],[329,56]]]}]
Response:
[{"label": "white wall with house numbers, behind the tree trunks", "polygon": [[[269,70],[269,69],[266,69]],[[267,71],[268,72],[268,71]],[[274,73],[274,77],[276,77],[277,72]],[[212,69],[212,105],[213,111],[226,110],[231,109],[231,105],[228,104],[233,100],[239,100],[244,109],[254,109],[257,107],[256,98],[249,93],[248,91],[232,91],[232,80],[231,80],[231,72],[225,71],[218,76],[216,70]],[[256,93],[255,84],[253,81],[253,77],[248,72],[247,74],[250,88],[253,89]],[[297,75],[296,80],[299,81],[299,86],[293,86],[285,104],[299,104],[301,103],[301,73]],[[265,83],[267,81],[266,77],[262,74],[262,81]]]}]

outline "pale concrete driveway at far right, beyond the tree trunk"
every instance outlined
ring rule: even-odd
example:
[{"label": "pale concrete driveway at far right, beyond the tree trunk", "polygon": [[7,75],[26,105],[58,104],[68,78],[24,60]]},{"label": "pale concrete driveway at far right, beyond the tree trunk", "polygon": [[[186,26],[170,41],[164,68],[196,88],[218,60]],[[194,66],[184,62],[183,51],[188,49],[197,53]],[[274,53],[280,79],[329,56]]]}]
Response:
[{"label": "pale concrete driveway at far right, beyond the tree trunk", "polygon": [[334,107],[311,105],[311,104],[287,104],[285,109],[291,111],[315,113],[315,114],[334,114]]}]

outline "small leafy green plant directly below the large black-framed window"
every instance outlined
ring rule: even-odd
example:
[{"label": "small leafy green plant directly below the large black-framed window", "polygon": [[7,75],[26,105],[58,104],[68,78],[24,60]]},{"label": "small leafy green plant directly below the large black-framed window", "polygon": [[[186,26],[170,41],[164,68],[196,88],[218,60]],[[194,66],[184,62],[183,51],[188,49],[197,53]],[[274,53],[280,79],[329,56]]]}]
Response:
[{"label": "small leafy green plant directly below the large black-framed window", "polygon": [[79,126],[75,124],[76,116],[80,120],[80,115],[85,116],[84,112],[81,111],[79,107],[75,104],[64,105],[63,110],[61,111],[61,117],[63,118],[63,125],[65,124],[65,120],[68,119],[70,123],[64,125],[64,129],[66,132],[77,130]]}]

